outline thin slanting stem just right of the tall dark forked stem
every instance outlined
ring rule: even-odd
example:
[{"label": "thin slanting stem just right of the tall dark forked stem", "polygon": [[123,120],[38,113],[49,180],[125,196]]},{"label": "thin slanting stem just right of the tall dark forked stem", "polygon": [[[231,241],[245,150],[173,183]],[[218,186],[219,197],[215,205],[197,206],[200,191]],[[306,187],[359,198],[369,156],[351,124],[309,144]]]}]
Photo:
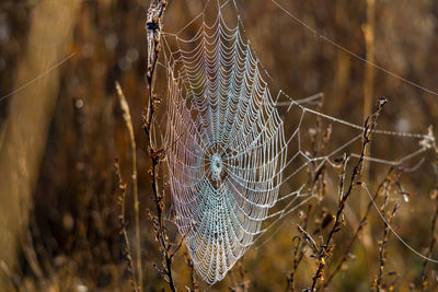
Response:
[{"label": "thin slanting stem just right of the tall dark forked stem", "polygon": [[369,212],[372,209],[372,201],[376,201],[377,197],[379,197],[380,191],[384,188],[387,189],[389,186],[389,183],[391,182],[391,174],[394,171],[394,167],[390,167],[390,170],[388,171],[387,177],[384,178],[384,180],[379,185],[374,196],[372,197],[372,200],[369,201],[367,210],[362,217],[362,219],[360,220],[359,226],[356,229],[355,234],[353,235],[351,240],[348,243],[347,248],[345,249],[345,254],[342,257],[341,261],[336,265],[334,271],[327,277],[327,280],[324,282],[323,289],[327,288],[328,284],[331,283],[331,281],[333,280],[333,278],[339,272],[342,266],[344,265],[344,262],[346,262],[349,258],[349,254],[351,252],[351,248],[354,246],[354,244],[356,243],[361,230],[364,229],[364,226],[367,224],[367,220],[368,220],[368,215]]}]

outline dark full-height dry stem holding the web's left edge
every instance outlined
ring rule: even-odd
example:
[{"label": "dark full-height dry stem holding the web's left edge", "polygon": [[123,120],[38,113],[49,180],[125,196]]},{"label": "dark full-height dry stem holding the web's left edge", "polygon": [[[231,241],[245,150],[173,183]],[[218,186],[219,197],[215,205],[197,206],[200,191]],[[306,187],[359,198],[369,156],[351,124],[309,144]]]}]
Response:
[{"label": "dark full-height dry stem holding the web's left edge", "polygon": [[169,237],[166,234],[166,229],[164,225],[164,200],[163,196],[160,191],[158,174],[160,166],[160,154],[162,150],[155,149],[155,141],[153,137],[153,115],[155,112],[155,104],[158,103],[158,98],[155,93],[153,92],[154,77],[155,77],[155,68],[157,60],[161,50],[161,28],[162,28],[162,19],[164,10],[168,5],[168,1],[165,0],[152,0],[148,10],[148,19],[146,23],[147,34],[148,34],[148,86],[149,86],[149,103],[146,112],[146,116],[143,116],[143,129],[147,136],[147,141],[149,144],[149,154],[151,159],[151,183],[152,183],[152,194],[153,199],[157,205],[157,218],[154,219],[155,223],[155,238],[159,244],[160,254],[162,257],[163,270],[159,270],[162,275],[165,276],[165,280],[169,282],[169,287],[172,291],[176,291],[175,283],[172,277],[172,260],[174,253],[170,253],[170,248],[172,244],[169,242]]}]

